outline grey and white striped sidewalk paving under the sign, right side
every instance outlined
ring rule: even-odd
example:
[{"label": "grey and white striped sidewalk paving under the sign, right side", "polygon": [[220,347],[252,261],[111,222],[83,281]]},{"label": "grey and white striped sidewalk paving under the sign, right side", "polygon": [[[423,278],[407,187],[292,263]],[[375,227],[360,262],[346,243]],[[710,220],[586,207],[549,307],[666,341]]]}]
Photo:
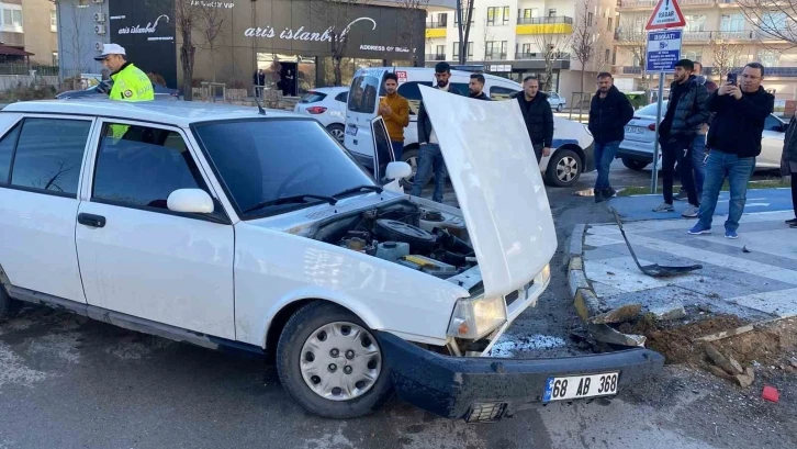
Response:
[{"label": "grey and white striped sidewalk paving under the sign, right side", "polygon": [[583,242],[584,272],[608,307],[641,303],[649,310],[681,301],[752,322],[795,316],[797,229],[784,223],[793,217],[792,211],[745,214],[736,240],[723,237],[719,216],[714,233],[703,236],[686,233],[694,220],[624,220],[640,263],[704,267],[673,278],[642,273],[616,224],[591,225]]}]

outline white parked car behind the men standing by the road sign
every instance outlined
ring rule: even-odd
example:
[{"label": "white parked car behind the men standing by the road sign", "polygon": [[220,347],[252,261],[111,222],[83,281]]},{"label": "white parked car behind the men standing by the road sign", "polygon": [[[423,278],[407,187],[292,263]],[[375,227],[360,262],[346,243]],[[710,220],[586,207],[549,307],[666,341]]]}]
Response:
[{"label": "white parked car behind the men standing by the road sign", "polygon": [[[642,170],[653,161],[655,137],[656,103],[640,108],[626,125],[626,138],[620,143],[617,157],[631,170]],[[661,120],[664,120],[667,101],[662,102]],[[776,169],[781,167],[781,153],[787,123],[770,114],[764,123],[761,139],[761,156],[755,158],[755,169]],[[661,154],[656,168],[661,170]]]}]

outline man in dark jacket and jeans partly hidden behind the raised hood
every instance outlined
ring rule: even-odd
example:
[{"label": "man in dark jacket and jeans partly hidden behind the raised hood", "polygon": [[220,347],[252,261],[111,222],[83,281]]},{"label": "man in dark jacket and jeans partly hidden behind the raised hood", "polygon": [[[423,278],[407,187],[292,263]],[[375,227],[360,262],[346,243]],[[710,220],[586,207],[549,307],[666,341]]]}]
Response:
[{"label": "man in dark jacket and jeans partly hidden behind the raised hood", "polygon": [[[451,78],[451,66],[448,63],[437,63],[435,66],[435,78],[437,87],[435,89],[445,90],[456,96],[461,96],[459,90],[451,86],[448,80]],[[445,188],[446,161],[442,159],[440,146],[437,142],[437,134],[431,127],[429,114],[420,102],[418,108],[418,169],[415,171],[413,189],[409,192],[413,197],[420,197],[424,186],[429,181],[433,171],[435,173],[435,193],[431,200],[438,203],[442,202],[442,189]]]}]

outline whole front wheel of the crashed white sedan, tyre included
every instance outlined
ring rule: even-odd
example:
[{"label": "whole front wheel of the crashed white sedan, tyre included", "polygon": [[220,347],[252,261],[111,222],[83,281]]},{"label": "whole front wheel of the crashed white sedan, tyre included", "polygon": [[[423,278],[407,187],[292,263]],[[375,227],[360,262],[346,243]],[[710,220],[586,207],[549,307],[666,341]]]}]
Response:
[{"label": "whole front wheel of the crashed white sedan, tyre included", "polygon": [[314,302],[288,321],[277,345],[282,386],[306,411],[326,418],[367,415],[391,394],[379,340],[353,313]]}]

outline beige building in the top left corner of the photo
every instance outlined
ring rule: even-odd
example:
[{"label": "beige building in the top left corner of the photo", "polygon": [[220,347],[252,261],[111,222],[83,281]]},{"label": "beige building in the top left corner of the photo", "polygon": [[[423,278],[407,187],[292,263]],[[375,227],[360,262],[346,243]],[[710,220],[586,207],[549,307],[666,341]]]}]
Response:
[{"label": "beige building in the top left corner of the photo", "polygon": [[58,64],[58,23],[52,0],[0,1],[0,63]]}]

